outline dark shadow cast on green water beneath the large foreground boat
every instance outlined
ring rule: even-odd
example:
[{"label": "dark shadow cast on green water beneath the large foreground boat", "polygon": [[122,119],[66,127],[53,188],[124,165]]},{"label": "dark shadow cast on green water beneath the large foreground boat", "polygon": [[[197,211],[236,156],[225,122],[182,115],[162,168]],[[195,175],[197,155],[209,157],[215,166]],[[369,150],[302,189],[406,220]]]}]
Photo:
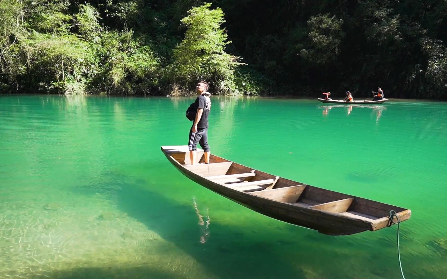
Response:
[{"label": "dark shadow cast on green water beneath the large foreground boat", "polygon": [[[173,173],[173,176],[177,175],[179,179],[182,178],[181,174]],[[154,183],[148,180],[137,179],[122,187],[118,193],[118,209],[190,255],[208,275],[218,278],[277,278],[278,275],[290,278],[346,278],[345,270],[350,268],[352,262],[346,262],[343,255],[350,254],[352,261],[357,261],[355,255],[358,255],[359,266],[375,256],[375,253],[364,255],[369,244],[360,244],[358,237],[326,236],[272,221],[265,216],[254,216],[254,221],[241,218],[239,215],[247,216],[249,209],[224,198],[219,204],[228,202],[228,216],[239,218],[240,222],[232,223],[236,225],[221,223],[219,217],[222,218],[222,211],[220,215],[213,215],[213,210],[218,210],[217,206],[213,206],[215,197],[213,200],[207,198],[217,194],[211,191],[200,194],[200,186],[185,181],[179,187],[184,187],[182,192],[191,192],[190,199],[176,201],[159,193],[160,189],[175,188],[169,182]],[[157,192],[151,189],[157,189]],[[202,197],[194,198],[194,193]],[[222,210],[221,206],[219,210]],[[326,258],[323,269],[319,264],[322,258]],[[366,262],[362,263],[361,259]],[[369,268],[373,271],[363,268],[363,271],[353,272],[353,275],[378,272],[375,266]],[[380,268],[379,273],[382,270]],[[208,275],[203,277],[209,278]]]}]

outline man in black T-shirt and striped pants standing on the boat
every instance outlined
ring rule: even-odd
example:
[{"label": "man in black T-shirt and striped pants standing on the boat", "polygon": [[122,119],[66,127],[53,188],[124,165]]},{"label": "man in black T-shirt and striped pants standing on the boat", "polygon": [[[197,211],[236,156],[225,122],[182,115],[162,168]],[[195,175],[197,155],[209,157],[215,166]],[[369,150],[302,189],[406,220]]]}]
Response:
[{"label": "man in black T-shirt and striped pants standing on the boat", "polygon": [[205,152],[205,164],[210,162],[210,146],[208,146],[208,114],[211,109],[211,94],[208,92],[208,83],[201,81],[197,83],[195,92],[199,94],[194,102],[197,109],[193,125],[190,129],[188,147],[190,150],[191,165],[196,161],[197,143]]}]

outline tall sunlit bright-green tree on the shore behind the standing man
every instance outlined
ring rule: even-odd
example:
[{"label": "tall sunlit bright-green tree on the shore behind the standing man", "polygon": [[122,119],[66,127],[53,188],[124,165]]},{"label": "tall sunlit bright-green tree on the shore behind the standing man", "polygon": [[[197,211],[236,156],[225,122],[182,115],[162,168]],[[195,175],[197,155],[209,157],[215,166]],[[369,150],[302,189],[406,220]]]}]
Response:
[{"label": "tall sunlit bright-green tree on the shore behind the standing man", "polygon": [[181,22],[186,25],[185,39],[175,48],[172,66],[173,80],[190,85],[197,80],[210,80],[218,92],[237,90],[234,70],[241,63],[238,57],[225,53],[227,34],[220,25],[223,12],[210,10],[211,4],[192,8]]}]

